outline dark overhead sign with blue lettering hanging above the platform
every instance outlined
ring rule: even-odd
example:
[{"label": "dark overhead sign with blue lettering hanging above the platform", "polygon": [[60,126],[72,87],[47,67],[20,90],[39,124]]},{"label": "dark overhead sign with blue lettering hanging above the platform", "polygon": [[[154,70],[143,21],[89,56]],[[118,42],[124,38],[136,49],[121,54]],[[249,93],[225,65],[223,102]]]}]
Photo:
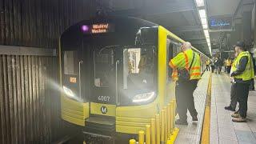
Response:
[{"label": "dark overhead sign with blue lettering hanging above the platform", "polygon": [[210,29],[212,30],[223,30],[232,29],[232,17],[214,16],[210,17],[209,22]]}]

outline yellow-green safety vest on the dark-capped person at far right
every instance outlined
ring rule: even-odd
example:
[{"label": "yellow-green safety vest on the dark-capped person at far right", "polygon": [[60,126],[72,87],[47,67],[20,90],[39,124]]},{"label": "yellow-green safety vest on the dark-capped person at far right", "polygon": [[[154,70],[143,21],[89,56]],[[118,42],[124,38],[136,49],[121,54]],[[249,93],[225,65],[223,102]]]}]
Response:
[{"label": "yellow-green safety vest on the dark-capped person at far right", "polygon": [[240,59],[245,56],[248,58],[248,62],[246,64],[246,70],[244,70],[242,74],[234,76],[234,78],[242,78],[243,81],[248,81],[254,78],[254,64],[252,62],[252,58],[248,51],[243,51],[238,55],[238,58],[234,60],[234,66],[232,66],[232,69],[233,71],[237,70]]}]

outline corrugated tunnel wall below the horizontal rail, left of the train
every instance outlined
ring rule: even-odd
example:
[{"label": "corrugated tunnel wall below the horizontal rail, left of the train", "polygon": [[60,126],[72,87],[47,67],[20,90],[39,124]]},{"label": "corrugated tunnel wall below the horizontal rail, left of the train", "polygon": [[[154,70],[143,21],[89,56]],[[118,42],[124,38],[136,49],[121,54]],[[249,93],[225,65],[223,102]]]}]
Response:
[{"label": "corrugated tunnel wall below the horizontal rail, left of the train", "polygon": [[0,143],[63,137],[56,57],[0,54]]}]

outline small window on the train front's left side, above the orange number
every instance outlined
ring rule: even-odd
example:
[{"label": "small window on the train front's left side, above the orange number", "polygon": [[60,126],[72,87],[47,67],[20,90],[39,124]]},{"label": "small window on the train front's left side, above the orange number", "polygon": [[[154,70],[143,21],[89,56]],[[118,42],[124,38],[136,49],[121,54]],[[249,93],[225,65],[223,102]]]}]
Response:
[{"label": "small window on the train front's left side, above the orange number", "polygon": [[77,51],[64,51],[64,74],[78,74],[78,53]]}]

